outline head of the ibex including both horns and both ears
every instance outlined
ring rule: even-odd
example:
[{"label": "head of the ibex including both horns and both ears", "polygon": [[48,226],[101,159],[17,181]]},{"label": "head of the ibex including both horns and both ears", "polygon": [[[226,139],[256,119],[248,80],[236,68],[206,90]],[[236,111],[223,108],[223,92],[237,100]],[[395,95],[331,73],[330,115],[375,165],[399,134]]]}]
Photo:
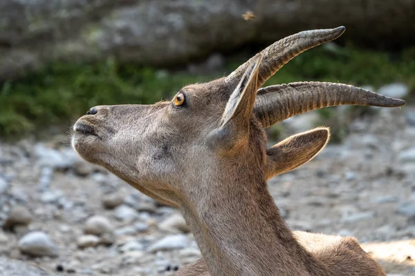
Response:
[{"label": "head of the ibex including both horns and both ears", "polygon": [[[210,183],[266,180],[306,163],[329,139],[327,128],[266,148],[264,128],[308,110],[405,101],[340,83],[290,83],[260,88],[296,55],[344,32],[299,32],[269,46],[228,77],[185,86],[154,105],[96,106],[74,126],[73,147],[140,190],[172,206],[211,196]],[[203,187],[200,184],[203,183]]]}]

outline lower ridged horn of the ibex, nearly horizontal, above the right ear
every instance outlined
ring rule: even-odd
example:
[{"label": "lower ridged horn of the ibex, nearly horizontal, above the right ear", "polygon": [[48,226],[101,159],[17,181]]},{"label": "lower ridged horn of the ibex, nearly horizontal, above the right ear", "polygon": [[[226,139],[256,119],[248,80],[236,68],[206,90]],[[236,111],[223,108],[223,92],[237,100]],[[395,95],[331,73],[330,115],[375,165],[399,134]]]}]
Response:
[{"label": "lower ridged horn of the ibex, nearly horizontal, above the right ear", "polygon": [[289,117],[328,106],[350,104],[391,108],[405,103],[402,99],[342,83],[295,82],[259,89],[254,113],[262,126],[268,128]]}]

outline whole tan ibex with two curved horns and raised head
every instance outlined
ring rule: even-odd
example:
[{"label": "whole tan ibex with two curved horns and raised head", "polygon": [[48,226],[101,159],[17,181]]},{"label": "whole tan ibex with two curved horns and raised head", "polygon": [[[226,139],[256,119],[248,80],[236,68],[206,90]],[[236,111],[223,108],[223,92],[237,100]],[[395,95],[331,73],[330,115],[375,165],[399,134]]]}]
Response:
[{"label": "whole tan ibex with two curved horns and raised head", "polygon": [[343,32],[299,32],[172,101],[96,106],[77,120],[72,144],[84,159],[183,213],[203,259],[176,275],[385,275],[353,237],[291,231],[266,186],[317,155],[329,129],[267,149],[264,128],[326,106],[405,104],[341,83],[259,89],[293,57]]}]

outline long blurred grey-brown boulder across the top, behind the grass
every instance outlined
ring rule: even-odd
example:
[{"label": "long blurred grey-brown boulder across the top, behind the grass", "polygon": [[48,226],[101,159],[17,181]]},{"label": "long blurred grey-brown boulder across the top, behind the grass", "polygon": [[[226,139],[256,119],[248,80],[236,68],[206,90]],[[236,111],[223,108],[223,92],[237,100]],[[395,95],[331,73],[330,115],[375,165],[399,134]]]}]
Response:
[{"label": "long blurred grey-brown boulder across the top, behind the grass", "polygon": [[[0,81],[56,60],[116,56],[142,65],[187,63],[246,43],[340,25],[347,26],[347,39],[356,44],[412,45],[415,2],[371,2],[3,0]],[[243,19],[248,11],[255,18]]]}]

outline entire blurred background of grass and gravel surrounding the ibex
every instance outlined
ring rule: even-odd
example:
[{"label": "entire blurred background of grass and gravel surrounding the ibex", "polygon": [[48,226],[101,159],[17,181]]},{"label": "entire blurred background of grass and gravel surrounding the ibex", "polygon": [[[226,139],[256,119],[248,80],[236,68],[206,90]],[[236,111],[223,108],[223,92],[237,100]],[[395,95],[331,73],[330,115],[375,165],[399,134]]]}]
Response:
[{"label": "entire blurred background of grass and gravel surrounding the ibex", "polygon": [[278,39],[337,26],[342,37],[266,86],[348,83],[408,104],[324,108],[269,128],[270,145],[332,130],[270,191],[293,229],[353,235],[387,273],[415,275],[413,0],[1,1],[0,275],[41,275],[11,259],[59,275],[169,275],[200,257],[176,210],[86,164],[68,130],[92,106],[169,99]]}]

